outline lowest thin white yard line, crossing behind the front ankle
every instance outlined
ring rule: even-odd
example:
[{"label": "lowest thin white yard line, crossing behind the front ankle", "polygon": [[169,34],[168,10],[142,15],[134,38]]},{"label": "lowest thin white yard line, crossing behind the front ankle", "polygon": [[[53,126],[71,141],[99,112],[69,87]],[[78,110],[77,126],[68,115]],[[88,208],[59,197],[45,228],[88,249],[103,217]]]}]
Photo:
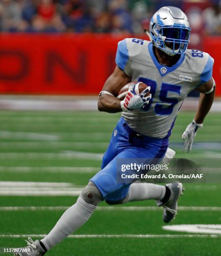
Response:
[{"label": "lowest thin white yard line, crossing behind the front ankle", "polygon": [[[46,236],[46,234],[18,234],[18,235],[4,235],[0,234],[0,238],[43,238]],[[220,235],[189,235],[189,234],[183,234],[183,235],[171,235],[171,234],[165,234],[165,235],[152,235],[152,234],[146,234],[146,235],[136,235],[136,234],[121,234],[121,235],[70,235],[68,238],[219,238]]]}]

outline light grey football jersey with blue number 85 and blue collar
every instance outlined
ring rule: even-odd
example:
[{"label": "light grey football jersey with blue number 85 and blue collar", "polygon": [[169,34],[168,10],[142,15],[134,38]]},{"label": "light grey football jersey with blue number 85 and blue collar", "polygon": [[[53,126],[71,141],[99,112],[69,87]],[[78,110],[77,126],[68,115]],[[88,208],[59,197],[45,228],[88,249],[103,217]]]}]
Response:
[{"label": "light grey football jersey with blue number 85 and blue collar", "polygon": [[213,58],[205,52],[188,49],[176,64],[167,67],[156,59],[151,42],[126,38],[118,43],[116,64],[131,81],[149,85],[152,94],[143,110],[123,112],[123,118],[138,133],[165,138],[171,135],[188,93],[211,79]]}]

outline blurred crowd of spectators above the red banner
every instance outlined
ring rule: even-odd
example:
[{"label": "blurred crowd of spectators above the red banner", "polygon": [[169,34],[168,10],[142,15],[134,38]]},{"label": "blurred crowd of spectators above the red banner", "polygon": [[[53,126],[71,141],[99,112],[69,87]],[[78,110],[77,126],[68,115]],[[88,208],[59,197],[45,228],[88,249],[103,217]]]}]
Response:
[{"label": "blurred crowd of spectators above the red banner", "polygon": [[[189,1],[189,0],[188,0]],[[0,0],[0,31],[143,33],[153,13],[177,0]],[[190,1],[189,1],[190,2]],[[196,0],[194,2],[197,2]],[[202,1],[199,1],[202,2]],[[207,2],[203,0],[203,2]],[[191,26],[221,35],[221,1],[188,11]],[[183,9],[183,8],[182,8]],[[196,38],[197,40],[197,38]]]}]

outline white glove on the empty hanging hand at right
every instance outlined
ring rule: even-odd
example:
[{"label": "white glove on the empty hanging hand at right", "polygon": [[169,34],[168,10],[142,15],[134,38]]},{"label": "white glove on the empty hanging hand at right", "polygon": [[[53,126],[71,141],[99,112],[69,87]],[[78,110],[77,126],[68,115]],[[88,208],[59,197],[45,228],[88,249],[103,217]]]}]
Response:
[{"label": "white glove on the empty hanging hand at right", "polygon": [[183,152],[187,149],[187,153],[191,151],[192,145],[193,145],[193,140],[196,136],[196,132],[198,128],[202,128],[203,124],[196,123],[194,120],[192,123],[190,123],[187,127],[186,130],[184,131],[182,135],[183,141],[186,139],[186,142],[184,143],[183,146]]}]

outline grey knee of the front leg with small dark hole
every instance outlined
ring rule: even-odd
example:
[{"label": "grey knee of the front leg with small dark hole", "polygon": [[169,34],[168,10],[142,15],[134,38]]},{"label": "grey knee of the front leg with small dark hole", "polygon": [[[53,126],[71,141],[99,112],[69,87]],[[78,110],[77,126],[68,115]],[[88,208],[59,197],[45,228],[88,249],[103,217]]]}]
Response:
[{"label": "grey knee of the front leg with small dark hole", "polygon": [[102,195],[93,182],[89,182],[88,185],[81,191],[80,197],[88,204],[98,205],[103,200]]}]

